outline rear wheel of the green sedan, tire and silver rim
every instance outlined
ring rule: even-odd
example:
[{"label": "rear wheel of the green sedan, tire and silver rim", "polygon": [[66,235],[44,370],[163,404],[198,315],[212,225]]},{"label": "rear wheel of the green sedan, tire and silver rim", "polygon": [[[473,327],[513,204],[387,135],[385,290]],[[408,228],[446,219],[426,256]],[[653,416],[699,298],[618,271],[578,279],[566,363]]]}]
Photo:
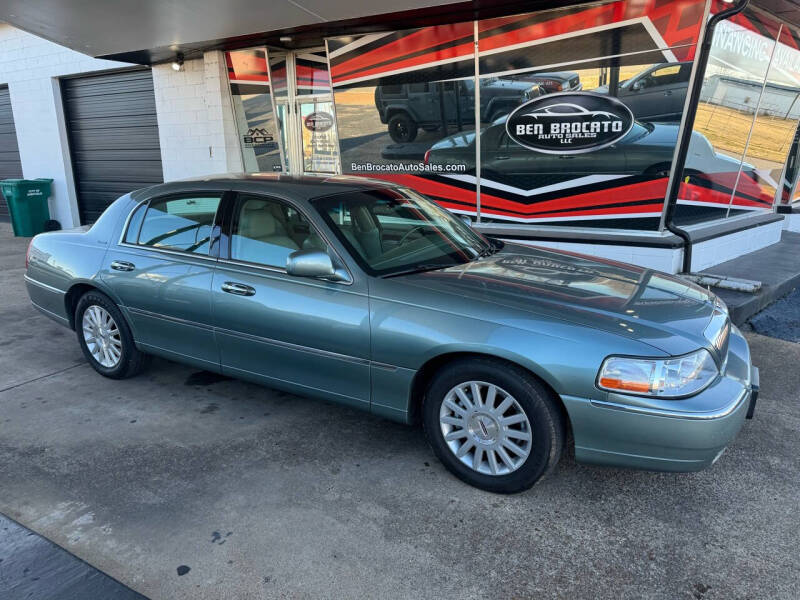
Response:
[{"label": "rear wheel of the green sedan, tire and silver rim", "polygon": [[105,377],[132,377],[147,362],[147,355],[137,350],[133,343],[133,335],[122,312],[101,292],[87,292],[78,300],[75,331],[86,360]]}]

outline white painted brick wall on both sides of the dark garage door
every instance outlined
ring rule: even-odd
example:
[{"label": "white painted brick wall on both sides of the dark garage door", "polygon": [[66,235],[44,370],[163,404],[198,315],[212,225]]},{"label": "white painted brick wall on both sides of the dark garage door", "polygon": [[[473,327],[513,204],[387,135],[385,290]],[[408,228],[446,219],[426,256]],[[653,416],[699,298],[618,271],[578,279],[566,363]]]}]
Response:
[{"label": "white painted brick wall on both sides of the dark garage door", "polygon": [[[8,84],[23,176],[53,178],[50,214],[78,225],[58,77],[129,66],[85,56],[0,23],[0,84]],[[221,52],[153,69],[164,180],[242,171]]]}]

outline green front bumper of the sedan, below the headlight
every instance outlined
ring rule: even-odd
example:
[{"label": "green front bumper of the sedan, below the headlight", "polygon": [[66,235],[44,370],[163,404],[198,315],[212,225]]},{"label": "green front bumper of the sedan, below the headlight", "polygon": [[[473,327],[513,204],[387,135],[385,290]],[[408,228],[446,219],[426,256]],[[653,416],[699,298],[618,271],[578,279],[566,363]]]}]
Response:
[{"label": "green front bumper of the sedan, below the headlight", "polygon": [[619,394],[563,396],[581,462],[657,471],[699,471],[713,464],[752,417],[758,369],[733,328],[722,376],[683,400]]}]

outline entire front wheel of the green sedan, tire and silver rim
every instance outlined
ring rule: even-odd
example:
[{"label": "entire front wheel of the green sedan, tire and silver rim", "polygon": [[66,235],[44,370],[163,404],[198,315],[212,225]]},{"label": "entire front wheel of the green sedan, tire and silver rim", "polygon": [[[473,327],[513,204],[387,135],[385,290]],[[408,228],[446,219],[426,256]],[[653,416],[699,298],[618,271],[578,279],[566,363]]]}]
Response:
[{"label": "entire front wheel of the green sedan, tire and silver rim", "polygon": [[547,475],[566,438],[552,393],[527,371],[491,359],[458,361],[439,372],[425,396],[423,422],[450,472],[504,494]]}]

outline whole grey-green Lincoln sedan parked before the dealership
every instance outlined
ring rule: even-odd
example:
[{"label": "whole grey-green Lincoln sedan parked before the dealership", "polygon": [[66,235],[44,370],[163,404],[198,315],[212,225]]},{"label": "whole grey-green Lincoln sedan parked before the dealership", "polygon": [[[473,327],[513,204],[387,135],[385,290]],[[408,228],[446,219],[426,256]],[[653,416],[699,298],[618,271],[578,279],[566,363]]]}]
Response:
[{"label": "whole grey-green Lincoln sedan parked before the dealership", "polygon": [[31,301],[101,375],[158,355],[421,423],[493,492],[529,488],[568,443],[582,462],[702,469],[758,392],[711,292],[487,238],[362,178],[157,185],[36,236],[27,260]]}]

